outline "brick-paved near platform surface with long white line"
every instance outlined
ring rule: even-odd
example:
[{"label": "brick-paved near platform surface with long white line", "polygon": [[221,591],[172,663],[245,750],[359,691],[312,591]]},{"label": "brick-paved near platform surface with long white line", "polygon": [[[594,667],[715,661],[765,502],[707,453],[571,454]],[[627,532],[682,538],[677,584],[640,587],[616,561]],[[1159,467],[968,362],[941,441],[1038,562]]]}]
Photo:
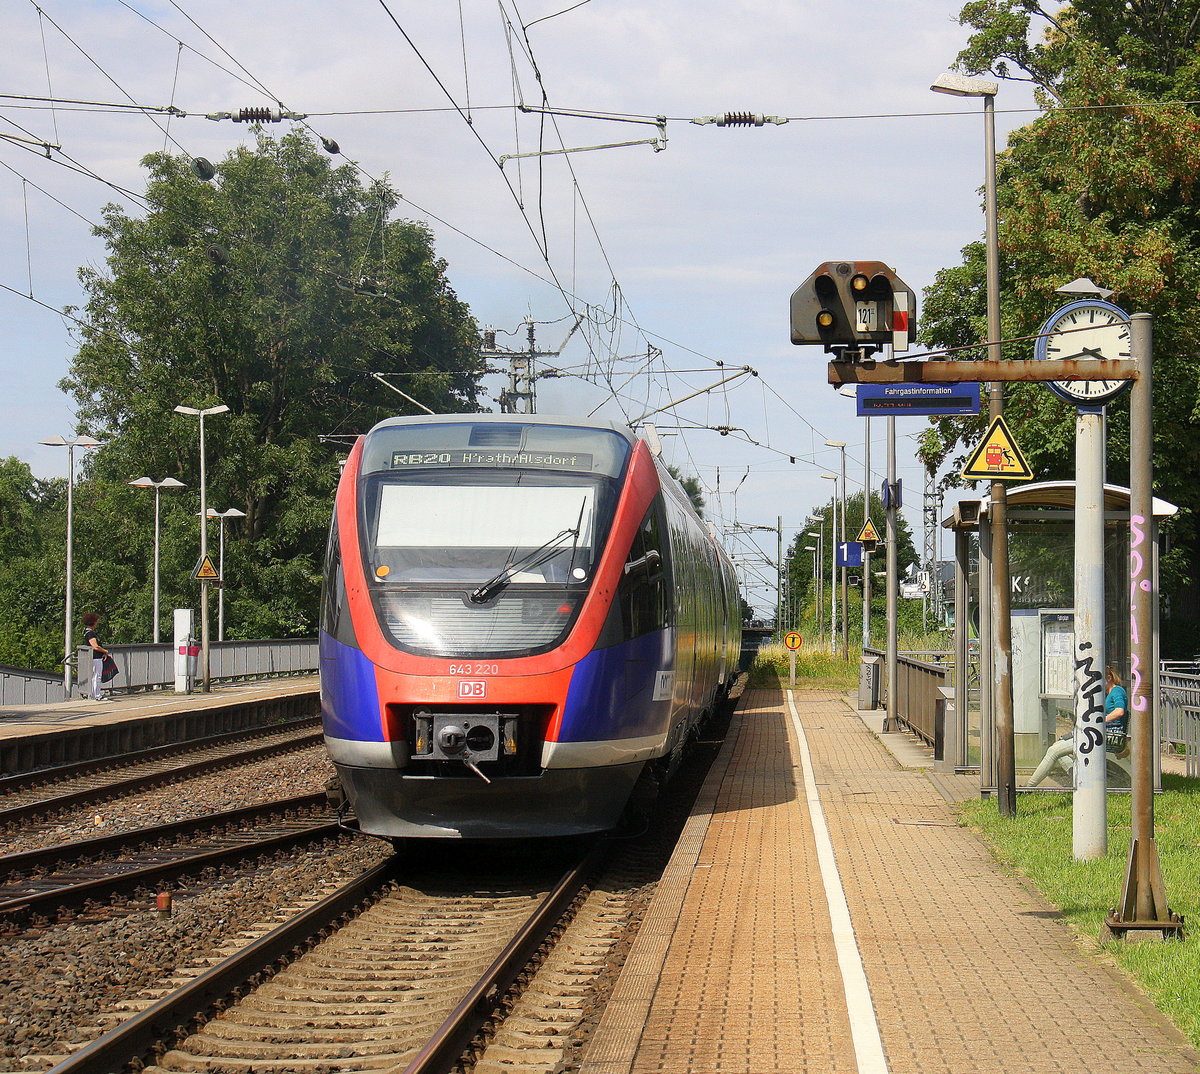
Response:
[{"label": "brick-paved near platform surface with long white line", "polygon": [[959,827],[973,778],[841,696],[791,702],[743,698],[583,1074],[1200,1070]]}]

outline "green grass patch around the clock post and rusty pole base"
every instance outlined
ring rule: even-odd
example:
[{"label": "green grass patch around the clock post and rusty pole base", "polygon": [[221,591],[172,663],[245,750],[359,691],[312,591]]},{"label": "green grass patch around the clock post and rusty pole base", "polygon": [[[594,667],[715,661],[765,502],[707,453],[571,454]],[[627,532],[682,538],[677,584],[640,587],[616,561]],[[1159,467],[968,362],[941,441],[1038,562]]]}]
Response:
[{"label": "green grass patch around the clock post and rusty pole base", "polygon": [[[1070,857],[1070,794],[1021,794],[1018,816],[1002,817],[995,799],[959,804],[967,824],[978,830],[1004,865],[1027,876],[1063,918],[1084,936],[1100,942],[1100,926],[1120,901],[1129,856],[1129,796],[1109,796],[1109,852],[1099,860]],[[1163,776],[1154,798],[1154,839],[1166,900],[1189,926],[1182,941],[1114,940],[1103,948],[1128,971],[1158,1008],[1200,1046],[1200,780]]]}]

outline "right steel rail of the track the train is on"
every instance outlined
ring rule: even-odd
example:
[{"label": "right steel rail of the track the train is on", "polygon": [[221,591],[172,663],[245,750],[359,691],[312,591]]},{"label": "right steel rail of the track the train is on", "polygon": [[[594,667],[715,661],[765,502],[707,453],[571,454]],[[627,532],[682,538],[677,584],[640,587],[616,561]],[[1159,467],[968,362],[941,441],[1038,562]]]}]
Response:
[{"label": "right steel rail of the track the train is on", "polygon": [[497,955],[446,1020],[438,1026],[428,1043],[404,1068],[403,1074],[445,1074],[454,1068],[458,1057],[496,1009],[496,1004],[600,866],[610,847],[610,840],[596,840],[583,860],[563,875],[554,889],[521,926],[521,931]]}]

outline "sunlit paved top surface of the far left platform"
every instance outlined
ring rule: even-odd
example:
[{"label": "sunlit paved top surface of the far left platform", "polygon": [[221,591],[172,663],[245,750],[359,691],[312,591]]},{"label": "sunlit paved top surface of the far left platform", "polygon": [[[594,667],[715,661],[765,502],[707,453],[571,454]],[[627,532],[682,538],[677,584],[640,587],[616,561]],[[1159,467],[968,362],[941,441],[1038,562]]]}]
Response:
[{"label": "sunlit paved top surface of the far left platform", "polygon": [[54,734],[71,727],[154,719],[168,713],[241,704],[293,694],[312,694],[318,689],[320,689],[319,677],[310,674],[215,685],[208,694],[146,690],[114,694],[112,701],[74,697],[49,704],[8,704],[0,707],[0,738]]}]

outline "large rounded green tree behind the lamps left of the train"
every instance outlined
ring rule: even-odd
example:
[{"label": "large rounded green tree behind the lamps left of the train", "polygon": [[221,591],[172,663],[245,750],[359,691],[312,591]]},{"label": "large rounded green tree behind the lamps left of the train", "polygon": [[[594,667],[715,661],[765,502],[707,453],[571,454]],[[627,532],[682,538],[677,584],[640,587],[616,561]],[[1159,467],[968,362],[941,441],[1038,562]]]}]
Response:
[{"label": "large rounded green tree behind the lamps left of the train", "polygon": [[391,187],[299,131],[259,132],[211,181],[181,157],[144,164],[145,211],[109,205],[107,264],[79,272],[62,382],[102,442],[77,492],[77,605],[114,641],[149,637],[151,508],[127,482],[172,476],[187,487],[163,497],[163,607],[194,606],[198,427],[174,409],[223,403],[205,422],[208,504],[246,515],[226,534],[227,634],[311,635],[340,458],[414,410],[389,378],[434,412],[479,409],[475,322],[428,230],[390,218]]}]

